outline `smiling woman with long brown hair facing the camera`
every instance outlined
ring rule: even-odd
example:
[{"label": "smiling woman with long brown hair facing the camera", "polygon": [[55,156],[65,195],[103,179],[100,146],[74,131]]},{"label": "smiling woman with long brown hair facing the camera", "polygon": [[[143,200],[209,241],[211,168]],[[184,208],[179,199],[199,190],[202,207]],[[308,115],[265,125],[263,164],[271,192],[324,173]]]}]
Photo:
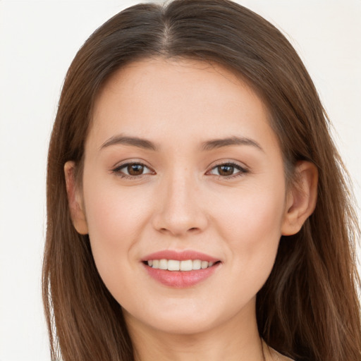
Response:
[{"label": "smiling woman with long brown hair facing the camera", "polygon": [[63,360],[360,360],[357,221],[312,80],[226,0],[133,6],[68,71],[44,305]]}]

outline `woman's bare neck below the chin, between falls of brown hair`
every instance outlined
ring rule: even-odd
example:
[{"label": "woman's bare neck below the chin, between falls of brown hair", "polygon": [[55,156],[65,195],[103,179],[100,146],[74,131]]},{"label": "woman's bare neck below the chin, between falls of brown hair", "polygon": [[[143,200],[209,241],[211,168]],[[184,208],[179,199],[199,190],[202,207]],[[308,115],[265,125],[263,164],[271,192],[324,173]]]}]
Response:
[{"label": "woman's bare neck below the chin, between falls of brown hair", "polygon": [[259,338],[255,312],[243,312],[197,334],[171,334],[125,314],[136,361],[264,361],[267,346]]}]

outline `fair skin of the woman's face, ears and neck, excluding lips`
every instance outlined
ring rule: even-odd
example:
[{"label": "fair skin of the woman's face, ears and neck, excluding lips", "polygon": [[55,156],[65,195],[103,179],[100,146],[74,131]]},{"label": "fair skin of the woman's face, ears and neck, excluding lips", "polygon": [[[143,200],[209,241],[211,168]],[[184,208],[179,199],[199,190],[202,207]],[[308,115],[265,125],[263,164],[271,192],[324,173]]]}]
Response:
[{"label": "fair skin of the woman's face, ears and neck, excluding lips", "polygon": [[[157,149],[114,141],[119,135]],[[246,144],[202,148],[234,136]],[[123,178],[127,162],[145,164],[144,173]],[[235,168],[220,175],[217,166],[230,162]],[[90,235],[137,360],[264,360],[256,294],[281,235],[298,232],[314,209],[317,171],[300,162],[298,185],[286,188],[279,142],[255,92],[201,61],[131,63],[97,97],[82,187],[74,170],[68,162],[73,223]],[[159,250],[196,250],[221,263],[201,283],[172,288],[141,262]],[[267,346],[263,353],[277,360]]]}]

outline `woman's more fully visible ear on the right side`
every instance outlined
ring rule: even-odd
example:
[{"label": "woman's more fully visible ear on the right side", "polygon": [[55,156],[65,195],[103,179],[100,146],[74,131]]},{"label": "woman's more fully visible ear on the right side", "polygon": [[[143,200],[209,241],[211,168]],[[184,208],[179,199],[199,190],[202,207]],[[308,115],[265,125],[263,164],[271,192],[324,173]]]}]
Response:
[{"label": "woman's more fully visible ear on the right side", "polygon": [[281,228],[282,235],[300,231],[312,214],[317,202],[317,167],[310,161],[299,161],[295,168],[295,182],[286,196],[286,208]]}]

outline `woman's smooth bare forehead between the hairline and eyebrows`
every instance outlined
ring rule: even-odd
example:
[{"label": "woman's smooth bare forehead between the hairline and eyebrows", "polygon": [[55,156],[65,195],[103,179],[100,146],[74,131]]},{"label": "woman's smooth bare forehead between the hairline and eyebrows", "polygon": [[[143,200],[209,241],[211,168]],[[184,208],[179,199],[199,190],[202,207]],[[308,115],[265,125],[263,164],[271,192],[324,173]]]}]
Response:
[{"label": "woman's smooth bare forehead between the hairline and eyebrows", "polygon": [[121,68],[99,92],[92,118],[90,137],[97,146],[116,133],[173,144],[274,136],[266,106],[239,76],[195,60],[145,59]]}]

